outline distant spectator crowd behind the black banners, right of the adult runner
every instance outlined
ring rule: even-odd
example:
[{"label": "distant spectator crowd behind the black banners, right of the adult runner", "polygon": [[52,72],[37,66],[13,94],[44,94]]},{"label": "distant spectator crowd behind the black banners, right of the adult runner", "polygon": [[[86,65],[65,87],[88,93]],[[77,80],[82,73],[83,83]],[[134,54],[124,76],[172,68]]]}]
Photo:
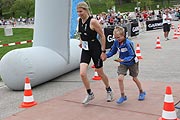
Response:
[{"label": "distant spectator crowd behind the black banners, right of the adult runner", "polygon": [[[125,12],[121,13],[115,12],[114,10],[109,10],[107,13],[102,12],[96,15],[96,19],[103,26],[103,28],[111,26],[111,25],[122,25],[128,22],[137,21],[139,23],[143,23],[147,20],[157,20],[161,19],[164,14],[165,9],[161,10],[135,10],[135,12]],[[180,7],[177,8],[169,8],[169,12],[173,17],[173,20],[180,19]]]}]

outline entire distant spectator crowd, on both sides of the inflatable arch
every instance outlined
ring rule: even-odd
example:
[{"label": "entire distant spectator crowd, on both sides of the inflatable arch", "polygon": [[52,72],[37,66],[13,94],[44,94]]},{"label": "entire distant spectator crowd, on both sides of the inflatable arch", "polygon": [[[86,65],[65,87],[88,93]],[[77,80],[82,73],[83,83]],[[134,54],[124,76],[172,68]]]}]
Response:
[{"label": "entire distant spectator crowd, on both sides of the inflatable arch", "polygon": [[[180,20],[180,7],[169,8],[170,14],[173,17],[173,20]],[[164,13],[164,9],[161,10],[135,10],[135,12],[125,12],[121,13],[120,11],[115,12],[113,9],[108,10],[108,12],[102,12],[95,15],[94,17],[99,21],[103,28],[114,25],[122,25],[129,22],[139,22],[140,26],[145,23],[147,20],[157,20],[161,19]],[[34,24],[34,18],[9,18],[9,19],[0,19],[1,25],[28,25]]]}]

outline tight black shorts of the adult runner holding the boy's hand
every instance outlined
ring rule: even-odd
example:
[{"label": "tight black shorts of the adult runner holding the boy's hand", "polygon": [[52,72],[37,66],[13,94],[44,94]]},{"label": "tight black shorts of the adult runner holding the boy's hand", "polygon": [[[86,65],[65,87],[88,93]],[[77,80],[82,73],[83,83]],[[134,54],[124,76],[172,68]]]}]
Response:
[{"label": "tight black shorts of the adult runner holding the boy's hand", "polygon": [[102,53],[100,42],[98,40],[88,41],[88,47],[89,50],[82,49],[80,63],[87,63],[89,65],[92,58],[95,68],[101,68],[103,61],[100,58]]}]

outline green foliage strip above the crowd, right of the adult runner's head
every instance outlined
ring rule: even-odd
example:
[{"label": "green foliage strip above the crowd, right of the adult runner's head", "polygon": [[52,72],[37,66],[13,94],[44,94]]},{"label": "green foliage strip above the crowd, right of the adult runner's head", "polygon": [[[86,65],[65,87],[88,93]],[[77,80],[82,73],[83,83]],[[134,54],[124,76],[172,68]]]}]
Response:
[{"label": "green foliage strip above the crowd, right of the adult runner's head", "polygon": [[115,6],[122,12],[133,11],[135,7],[141,10],[153,10],[172,7],[180,4],[179,0],[85,0],[93,13],[99,13]]}]

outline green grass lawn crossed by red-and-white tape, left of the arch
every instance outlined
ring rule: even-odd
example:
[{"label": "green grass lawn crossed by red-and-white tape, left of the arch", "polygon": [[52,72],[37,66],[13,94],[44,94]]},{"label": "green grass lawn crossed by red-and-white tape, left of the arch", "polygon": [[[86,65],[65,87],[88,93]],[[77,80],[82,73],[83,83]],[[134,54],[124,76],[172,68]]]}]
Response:
[{"label": "green grass lawn crossed by red-and-white tape, left of the arch", "polygon": [[[14,43],[14,42],[21,42],[26,40],[33,39],[33,29],[29,28],[13,28],[13,36],[5,36],[4,35],[4,28],[0,28],[0,45]],[[0,59],[9,51],[18,49],[18,48],[25,48],[31,47],[32,43],[27,44],[20,44],[8,47],[0,47]]]}]

